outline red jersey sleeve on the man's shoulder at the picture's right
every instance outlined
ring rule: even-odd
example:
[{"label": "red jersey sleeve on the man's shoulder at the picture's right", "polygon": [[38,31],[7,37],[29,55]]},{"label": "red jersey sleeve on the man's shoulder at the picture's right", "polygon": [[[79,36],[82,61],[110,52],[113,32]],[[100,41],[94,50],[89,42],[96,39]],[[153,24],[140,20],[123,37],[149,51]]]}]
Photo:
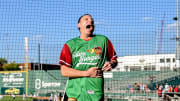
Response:
[{"label": "red jersey sleeve on the man's shoulder at the picture's right", "polygon": [[109,59],[116,60],[117,59],[116,52],[110,40],[108,40],[107,48],[108,48]]}]

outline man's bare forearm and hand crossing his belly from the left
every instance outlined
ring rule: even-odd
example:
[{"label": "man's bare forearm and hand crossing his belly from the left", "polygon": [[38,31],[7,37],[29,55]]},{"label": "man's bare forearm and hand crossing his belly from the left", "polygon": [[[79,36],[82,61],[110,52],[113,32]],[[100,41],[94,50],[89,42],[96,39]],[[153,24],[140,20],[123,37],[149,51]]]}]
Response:
[{"label": "man's bare forearm and hand crossing his belly from the left", "polygon": [[98,78],[101,77],[98,72],[98,67],[91,67],[87,71],[80,71],[73,69],[71,67],[67,67],[65,65],[61,65],[61,74],[62,76],[69,77],[69,78],[79,78],[79,77],[92,77]]}]

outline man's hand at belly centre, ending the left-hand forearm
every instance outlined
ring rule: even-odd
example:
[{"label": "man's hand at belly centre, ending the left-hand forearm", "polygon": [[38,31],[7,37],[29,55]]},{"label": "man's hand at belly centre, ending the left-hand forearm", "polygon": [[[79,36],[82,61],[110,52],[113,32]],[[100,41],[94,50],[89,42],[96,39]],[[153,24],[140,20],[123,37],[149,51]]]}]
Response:
[{"label": "man's hand at belly centre, ending the left-hand forearm", "polygon": [[91,67],[87,70],[88,77],[92,78],[100,78],[102,77],[102,73],[100,73],[101,70],[98,70],[98,67]]}]

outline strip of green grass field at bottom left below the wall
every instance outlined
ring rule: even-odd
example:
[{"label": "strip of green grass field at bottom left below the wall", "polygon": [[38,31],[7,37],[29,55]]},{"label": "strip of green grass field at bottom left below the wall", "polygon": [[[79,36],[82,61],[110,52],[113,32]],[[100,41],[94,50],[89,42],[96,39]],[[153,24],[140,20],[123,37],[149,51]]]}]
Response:
[{"label": "strip of green grass field at bottom left below the wall", "polygon": [[36,98],[29,98],[26,97],[25,100],[23,100],[23,97],[20,96],[16,96],[15,99],[13,99],[12,96],[3,96],[2,99],[0,99],[0,101],[38,101]]}]

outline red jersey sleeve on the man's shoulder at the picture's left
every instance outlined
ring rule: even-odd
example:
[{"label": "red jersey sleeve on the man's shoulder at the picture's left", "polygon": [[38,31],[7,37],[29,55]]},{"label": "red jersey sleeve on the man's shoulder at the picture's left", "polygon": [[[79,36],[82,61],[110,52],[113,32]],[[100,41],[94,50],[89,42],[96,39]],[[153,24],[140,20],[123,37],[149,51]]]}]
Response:
[{"label": "red jersey sleeve on the man's shoulder at the picture's left", "polygon": [[69,46],[67,44],[64,44],[64,47],[61,51],[59,64],[71,67],[71,63],[72,63],[71,51],[69,49]]}]

